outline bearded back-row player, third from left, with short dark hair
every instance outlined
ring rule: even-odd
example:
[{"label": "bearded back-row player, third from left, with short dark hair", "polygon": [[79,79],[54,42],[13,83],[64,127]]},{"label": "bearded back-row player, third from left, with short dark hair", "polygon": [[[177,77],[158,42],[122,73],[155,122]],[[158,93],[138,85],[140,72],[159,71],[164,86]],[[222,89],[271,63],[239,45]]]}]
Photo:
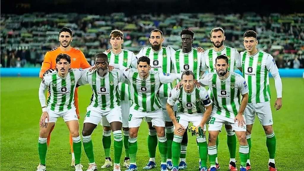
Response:
[{"label": "bearded back-row player, third from left, with short dark hair", "polygon": [[[163,73],[170,73],[172,70],[171,63],[171,54],[174,53],[174,49],[171,47],[162,47],[161,44],[164,42],[163,32],[161,30],[155,29],[150,32],[149,38],[151,47],[143,47],[140,52],[137,54],[137,58],[141,56],[147,56],[150,61],[150,67],[153,71],[159,71]],[[162,106],[162,110],[164,113],[165,120],[165,132],[168,140],[168,159],[167,164],[168,168],[172,168],[172,155],[171,155],[171,146],[173,141],[173,123],[168,115],[166,110],[167,98],[172,89],[172,84],[163,84],[161,85],[157,96],[160,100],[160,105]],[[148,152],[149,152],[149,162],[147,166],[143,169],[152,169],[156,166],[155,163],[155,154],[156,154],[156,146],[157,146],[157,133],[156,130],[152,127],[152,122],[149,118],[147,118],[147,123],[149,126],[149,135],[148,135]]]}]

